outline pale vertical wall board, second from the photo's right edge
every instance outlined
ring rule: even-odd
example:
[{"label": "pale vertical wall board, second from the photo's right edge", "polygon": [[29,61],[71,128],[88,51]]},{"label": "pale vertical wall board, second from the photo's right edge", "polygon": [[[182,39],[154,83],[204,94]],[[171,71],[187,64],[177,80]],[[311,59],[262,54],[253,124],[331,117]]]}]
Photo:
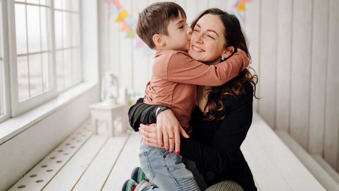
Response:
[{"label": "pale vertical wall board, second from the photo's right edge", "polygon": [[313,54],[308,151],[322,154],[328,51],[328,0],[314,0]]}]

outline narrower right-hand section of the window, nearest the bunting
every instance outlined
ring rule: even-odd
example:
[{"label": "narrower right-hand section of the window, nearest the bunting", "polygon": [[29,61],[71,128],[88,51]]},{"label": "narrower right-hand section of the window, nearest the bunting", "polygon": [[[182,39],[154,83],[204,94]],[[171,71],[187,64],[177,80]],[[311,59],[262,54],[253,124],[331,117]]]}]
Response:
[{"label": "narrower right-hand section of the window, nearest the bunting", "polygon": [[80,81],[78,0],[54,0],[58,91]]}]

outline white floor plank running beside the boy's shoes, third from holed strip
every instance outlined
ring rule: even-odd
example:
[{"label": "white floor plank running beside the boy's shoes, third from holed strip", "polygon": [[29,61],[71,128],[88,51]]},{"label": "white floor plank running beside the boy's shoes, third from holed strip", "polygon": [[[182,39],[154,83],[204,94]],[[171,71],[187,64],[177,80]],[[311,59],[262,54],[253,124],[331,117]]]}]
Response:
[{"label": "white floor plank running beside the boy's shoes, third from holed strip", "polygon": [[138,155],[140,141],[141,138],[139,133],[132,132],[132,135],[129,137],[116,164],[114,165],[111,174],[109,174],[102,191],[121,190],[125,180],[131,178],[132,170],[135,167],[140,167]]}]

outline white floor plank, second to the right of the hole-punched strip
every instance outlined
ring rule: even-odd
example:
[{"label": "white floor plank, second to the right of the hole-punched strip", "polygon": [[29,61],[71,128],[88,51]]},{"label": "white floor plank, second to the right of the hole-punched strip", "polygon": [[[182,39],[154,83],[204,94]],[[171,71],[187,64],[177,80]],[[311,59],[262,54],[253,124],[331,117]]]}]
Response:
[{"label": "white floor plank, second to the right of the hole-punched strip", "polygon": [[101,190],[128,137],[124,133],[109,138],[73,191]]}]

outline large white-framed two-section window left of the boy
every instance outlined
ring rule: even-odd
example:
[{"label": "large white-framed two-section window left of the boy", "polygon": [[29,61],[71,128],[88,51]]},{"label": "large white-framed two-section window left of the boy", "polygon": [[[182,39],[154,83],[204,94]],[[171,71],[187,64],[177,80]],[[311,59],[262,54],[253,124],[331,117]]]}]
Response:
[{"label": "large white-framed two-section window left of the boy", "polygon": [[78,1],[8,1],[12,117],[80,82]]}]

